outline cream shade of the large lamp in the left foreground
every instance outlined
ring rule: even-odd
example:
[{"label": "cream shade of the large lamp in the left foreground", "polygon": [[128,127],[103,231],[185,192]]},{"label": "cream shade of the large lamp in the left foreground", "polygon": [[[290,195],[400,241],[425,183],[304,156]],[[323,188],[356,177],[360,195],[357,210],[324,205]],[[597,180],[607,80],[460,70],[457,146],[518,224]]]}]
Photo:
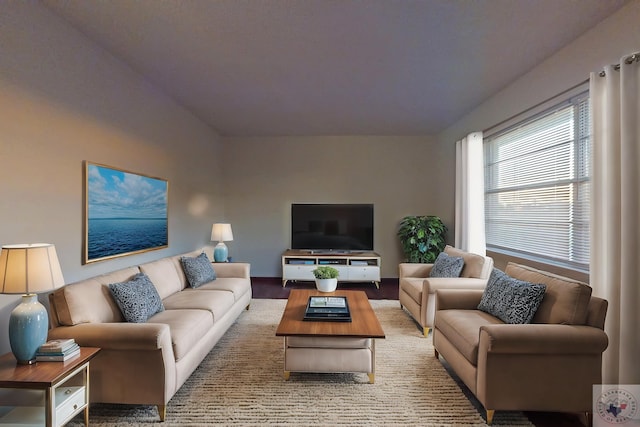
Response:
[{"label": "cream shade of the large lamp in the left foreground", "polygon": [[6,245],[0,252],[0,293],[32,294],[64,286],[56,248],[50,243]]}]

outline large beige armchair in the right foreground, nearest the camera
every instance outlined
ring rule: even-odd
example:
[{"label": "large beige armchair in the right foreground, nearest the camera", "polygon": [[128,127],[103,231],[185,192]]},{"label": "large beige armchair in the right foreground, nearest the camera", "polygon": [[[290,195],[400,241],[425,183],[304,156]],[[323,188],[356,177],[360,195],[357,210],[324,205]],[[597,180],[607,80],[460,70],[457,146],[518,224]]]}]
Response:
[{"label": "large beige armchair in the right foreground, nearest the camera", "polygon": [[[566,277],[509,263],[511,278],[545,285],[531,323],[478,309],[482,290],[436,293],[433,345],[487,411],[576,412],[588,417],[602,380],[607,301]],[[487,289],[489,289],[487,285]]]}]

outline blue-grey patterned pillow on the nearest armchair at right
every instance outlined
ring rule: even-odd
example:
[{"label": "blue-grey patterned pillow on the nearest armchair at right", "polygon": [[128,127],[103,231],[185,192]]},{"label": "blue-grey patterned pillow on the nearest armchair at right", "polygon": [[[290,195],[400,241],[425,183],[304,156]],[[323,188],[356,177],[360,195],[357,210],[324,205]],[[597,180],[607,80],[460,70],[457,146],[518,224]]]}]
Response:
[{"label": "blue-grey patterned pillow on the nearest armchair at right", "polygon": [[545,285],[514,279],[496,270],[489,277],[478,310],[505,323],[531,323],[544,297]]}]

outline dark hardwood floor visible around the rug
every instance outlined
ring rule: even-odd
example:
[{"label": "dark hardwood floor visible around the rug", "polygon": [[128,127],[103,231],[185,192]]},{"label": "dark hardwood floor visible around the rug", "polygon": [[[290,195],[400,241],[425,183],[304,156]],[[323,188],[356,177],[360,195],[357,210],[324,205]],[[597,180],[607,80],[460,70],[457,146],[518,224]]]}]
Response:
[{"label": "dark hardwood floor visible around the rug", "polygon": [[[291,289],[309,289],[313,282],[288,282],[282,286],[279,277],[252,277],[253,297],[269,299],[287,299]],[[354,289],[365,291],[369,299],[398,299],[398,279],[382,279],[380,288],[373,283],[338,283],[339,289]],[[398,305],[398,314],[401,314]],[[418,325],[416,324],[416,329]],[[451,373],[451,372],[450,372]],[[452,374],[454,376],[455,374]],[[454,378],[455,379],[455,378]],[[464,387],[464,385],[462,385]],[[579,414],[565,414],[556,412],[526,412],[529,420],[536,427],[584,427]]]}]

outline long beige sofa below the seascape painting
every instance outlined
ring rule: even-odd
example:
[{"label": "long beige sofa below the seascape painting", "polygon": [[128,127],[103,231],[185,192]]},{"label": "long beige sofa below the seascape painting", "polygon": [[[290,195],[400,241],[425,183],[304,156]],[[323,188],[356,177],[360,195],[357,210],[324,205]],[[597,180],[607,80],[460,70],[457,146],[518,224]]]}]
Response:
[{"label": "long beige sofa below the seascape painting", "polygon": [[[215,263],[216,279],[190,287],[175,255],[67,285],[49,297],[49,338],[102,350],[91,362],[91,402],[165,405],[251,302],[249,264]],[[163,309],[146,322],[124,320],[109,285],[144,273]]]}]

